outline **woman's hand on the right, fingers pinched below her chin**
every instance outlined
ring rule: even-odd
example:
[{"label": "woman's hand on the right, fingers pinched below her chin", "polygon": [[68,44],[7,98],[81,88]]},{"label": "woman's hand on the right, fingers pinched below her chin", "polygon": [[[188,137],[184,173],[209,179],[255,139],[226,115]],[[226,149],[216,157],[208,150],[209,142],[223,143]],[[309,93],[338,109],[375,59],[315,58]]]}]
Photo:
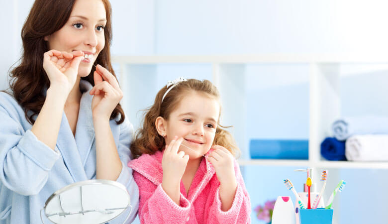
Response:
[{"label": "woman's hand on the right, fingers pinched below her chin", "polygon": [[110,114],[122,99],[123,93],[116,78],[100,65],[96,66],[94,80],[95,86],[90,91],[90,95],[94,95],[92,100],[93,118],[109,120]]}]

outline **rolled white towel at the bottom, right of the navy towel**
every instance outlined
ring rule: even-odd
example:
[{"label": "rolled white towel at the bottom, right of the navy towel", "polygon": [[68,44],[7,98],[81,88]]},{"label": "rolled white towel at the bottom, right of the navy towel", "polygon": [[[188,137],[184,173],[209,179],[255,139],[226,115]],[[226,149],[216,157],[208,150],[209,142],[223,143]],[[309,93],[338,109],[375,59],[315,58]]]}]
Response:
[{"label": "rolled white towel at the bottom, right of the navy towel", "polygon": [[346,140],[345,156],[351,161],[388,161],[388,135],[354,135]]}]

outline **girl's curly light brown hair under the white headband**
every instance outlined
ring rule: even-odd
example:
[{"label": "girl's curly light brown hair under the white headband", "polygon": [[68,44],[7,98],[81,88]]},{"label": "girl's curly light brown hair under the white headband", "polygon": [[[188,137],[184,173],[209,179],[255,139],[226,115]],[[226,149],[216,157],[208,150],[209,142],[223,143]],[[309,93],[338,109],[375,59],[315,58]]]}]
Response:
[{"label": "girl's curly light brown hair under the white headband", "polygon": [[[190,92],[203,93],[208,97],[213,97],[219,102],[219,93],[217,88],[208,80],[199,81],[189,79],[183,81],[173,87],[163,99],[163,95],[169,88],[163,87],[156,95],[154,105],[146,110],[143,118],[143,126],[136,132],[136,137],[131,144],[132,155],[137,158],[142,154],[154,154],[157,151],[162,151],[166,142],[164,137],[158,134],[155,126],[155,120],[158,116],[168,120],[169,115],[173,112],[181,102],[181,100]],[[221,106],[220,106],[221,107]],[[221,110],[220,114],[221,115]],[[217,121],[217,129],[215,131],[214,145],[220,145],[228,149],[233,155],[239,152],[233,136],[225,129],[225,126]]]}]

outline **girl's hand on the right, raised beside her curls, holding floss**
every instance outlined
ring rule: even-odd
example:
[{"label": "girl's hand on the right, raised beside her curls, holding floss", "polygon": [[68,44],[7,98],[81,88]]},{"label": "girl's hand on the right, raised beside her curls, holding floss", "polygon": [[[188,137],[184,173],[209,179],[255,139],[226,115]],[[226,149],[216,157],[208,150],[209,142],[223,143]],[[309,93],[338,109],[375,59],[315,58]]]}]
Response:
[{"label": "girl's hand on the right, raised beside her curls, holding floss", "polygon": [[212,148],[214,148],[214,151],[210,153],[207,160],[213,165],[220,184],[230,185],[236,183],[233,155],[222,146],[213,145]]}]

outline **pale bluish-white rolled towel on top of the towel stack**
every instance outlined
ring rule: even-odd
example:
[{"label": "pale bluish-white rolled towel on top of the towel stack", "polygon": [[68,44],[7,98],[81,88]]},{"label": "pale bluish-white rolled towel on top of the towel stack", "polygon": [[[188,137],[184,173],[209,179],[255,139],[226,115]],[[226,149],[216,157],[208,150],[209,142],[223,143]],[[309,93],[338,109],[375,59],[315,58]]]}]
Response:
[{"label": "pale bluish-white rolled towel on top of the towel stack", "polygon": [[331,126],[333,135],[340,141],[356,134],[388,134],[387,116],[343,117]]}]

